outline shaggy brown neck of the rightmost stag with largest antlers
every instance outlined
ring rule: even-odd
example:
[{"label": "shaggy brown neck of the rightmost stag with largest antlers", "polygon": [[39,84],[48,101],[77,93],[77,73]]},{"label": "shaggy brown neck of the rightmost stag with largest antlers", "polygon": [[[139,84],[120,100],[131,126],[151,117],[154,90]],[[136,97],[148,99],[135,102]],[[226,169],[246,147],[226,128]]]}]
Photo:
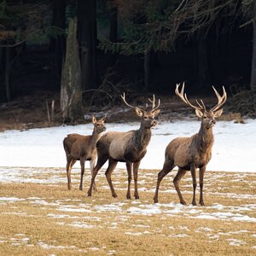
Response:
[{"label": "shaggy brown neck of the rightmost stag with largest antlers", "polygon": [[206,152],[209,148],[212,148],[214,141],[212,128],[206,129],[201,125],[197,138],[197,146],[201,152]]}]

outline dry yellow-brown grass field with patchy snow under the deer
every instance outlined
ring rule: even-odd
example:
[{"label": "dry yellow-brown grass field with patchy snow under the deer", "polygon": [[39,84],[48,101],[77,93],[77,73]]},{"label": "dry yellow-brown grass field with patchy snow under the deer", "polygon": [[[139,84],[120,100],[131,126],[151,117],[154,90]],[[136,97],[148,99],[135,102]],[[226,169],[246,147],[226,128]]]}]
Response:
[{"label": "dry yellow-brown grass field with patchy snow under the deer", "polygon": [[175,171],[154,204],[157,172],[140,170],[140,200],[128,201],[125,170],[113,172],[114,199],[103,171],[88,198],[89,170],[84,191],[77,169],[68,191],[64,168],[0,168],[0,255],[256,255],[256,173],[208,171],[206,207],[193,207],[190,174],[182,206]]}]

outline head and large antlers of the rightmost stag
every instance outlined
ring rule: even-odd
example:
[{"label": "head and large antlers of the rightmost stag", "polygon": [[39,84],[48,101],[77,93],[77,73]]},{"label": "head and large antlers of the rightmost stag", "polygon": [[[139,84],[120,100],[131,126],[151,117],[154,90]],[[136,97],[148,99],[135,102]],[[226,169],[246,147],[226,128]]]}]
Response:
[{"label": "head and large antlers of the rightmost stag", "polygon": [[176,85],[176,90],[175,90],[176,95],[179,96],[179,98],[184,103],[186,103],[189,107],[195,109],[195,114],[201,119],[201,124],[204,127],[206,127],[207,129],[212,128],[216,124],[215,118],[218,118],[223,113],[223,108],[221,107],[224,105],[224,102],[226,102],[227,100],[227,94],[224,89],[224,86],[222,87],[223,96],[220,96],[218,94],[218,91],[212,86],[215,92],[215,95],[218,98],[218,103],[209,111],[207,111],[206,106],[202,100],[200,100],[201,102],[198,102],[197,100],[195,100],[198,106],[191,104],[188,100],[186,93],[184,93],[184,86],[185,86],[184,83],[183,83],[182,90],[180,92],[178,90],[179,85],[180,84]]}]

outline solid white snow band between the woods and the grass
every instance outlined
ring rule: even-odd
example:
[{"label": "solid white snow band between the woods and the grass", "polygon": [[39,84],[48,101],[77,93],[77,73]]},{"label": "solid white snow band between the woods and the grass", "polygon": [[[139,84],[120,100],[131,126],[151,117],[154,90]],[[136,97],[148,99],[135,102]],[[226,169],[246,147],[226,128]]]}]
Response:
[{"label": "solid white snow band between the woods and the grass", "polygon": [[[139,123],[107,124],[107,131],[130,131],[138,127]],[[1,132],[0,166],[65,167],[63,138],[69,133],[90,134],[92,128],[88,124]],[[194,120],[161,122],[153,129],[141,168],[161,169],[167,144],[175,137],[189,137],[199,128],[200,121]],[[207,170],[256,172],[256,120],[247,119],[246,124],[218,121],[213,129],[215,142]],[[79,167],[79,162],[75,166]],[[118,167],[125,168],[125,164],[119,163]]]}]

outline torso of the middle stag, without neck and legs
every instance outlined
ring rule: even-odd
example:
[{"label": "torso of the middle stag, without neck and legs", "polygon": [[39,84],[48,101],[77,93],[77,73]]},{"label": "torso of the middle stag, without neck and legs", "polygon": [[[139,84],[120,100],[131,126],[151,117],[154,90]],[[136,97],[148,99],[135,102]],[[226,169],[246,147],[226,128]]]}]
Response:
[{"label": "torso of the middle stag, without neck and legs", "polygon": [[[96,144],[98,158],[109,159],[119,162],[138,162],[143,159],[147,153],[147,146],[141,148],[135,142],[134,136],[137,131],[109,131],[104,134]],[[150,140],[150,137],[149,137]]]}]

